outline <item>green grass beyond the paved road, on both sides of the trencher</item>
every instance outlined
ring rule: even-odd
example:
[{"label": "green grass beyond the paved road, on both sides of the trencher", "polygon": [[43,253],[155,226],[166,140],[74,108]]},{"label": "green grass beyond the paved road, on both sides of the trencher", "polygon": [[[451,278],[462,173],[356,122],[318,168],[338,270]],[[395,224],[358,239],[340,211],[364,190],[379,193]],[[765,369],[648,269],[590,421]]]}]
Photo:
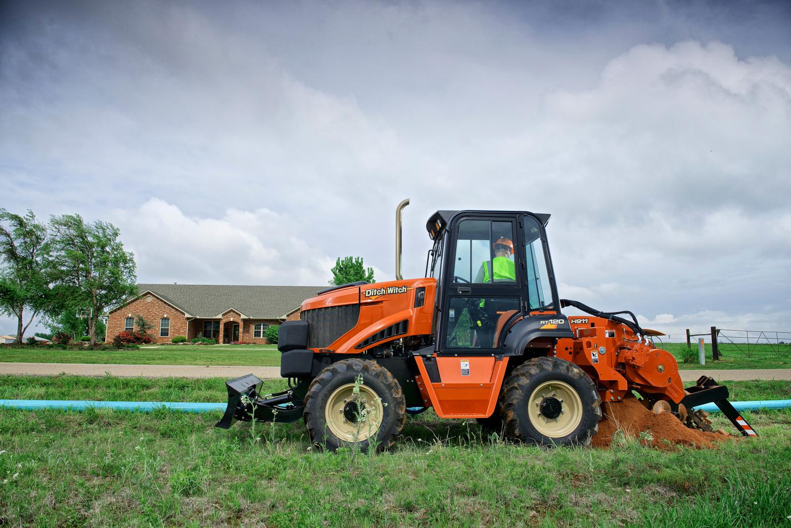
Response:
[{"label": "green grass beyond the paved road, on both sides of the trencher", "polygon": [[[660,345],[657,342],[657,345]],[[791,353],[780,357],[769,347],[758,347],[752,357],[728,350],[719,361],[711,358],[711,345],[706,345],[706,366],[697,362],[683,363],[683,343],[664,343],[664,349],[673,353],[681,369],[706,368],[750,369],[791,368]],[[146,346],[139,350],[61,350],[35,347],[0,347],[0,362],[28,363],[97,363],[97,364],[149,364],[149,365],[259,365],[277,367],[280,353],[275,345],[214,345],[214,346]]]}]

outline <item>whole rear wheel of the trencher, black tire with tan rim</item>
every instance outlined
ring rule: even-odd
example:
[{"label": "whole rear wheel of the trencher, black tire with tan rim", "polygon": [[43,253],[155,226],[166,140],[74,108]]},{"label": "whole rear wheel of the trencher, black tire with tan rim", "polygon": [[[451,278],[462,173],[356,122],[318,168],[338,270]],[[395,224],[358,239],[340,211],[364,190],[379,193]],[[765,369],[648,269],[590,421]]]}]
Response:
[{"label": "whole rear wheel of the trencher, black tire with tan rim", "polygon": [[501,396],[505,435],[540,446],[588,445],[599,430],[601,398],[576,364],[537,357],[515,368]]}]

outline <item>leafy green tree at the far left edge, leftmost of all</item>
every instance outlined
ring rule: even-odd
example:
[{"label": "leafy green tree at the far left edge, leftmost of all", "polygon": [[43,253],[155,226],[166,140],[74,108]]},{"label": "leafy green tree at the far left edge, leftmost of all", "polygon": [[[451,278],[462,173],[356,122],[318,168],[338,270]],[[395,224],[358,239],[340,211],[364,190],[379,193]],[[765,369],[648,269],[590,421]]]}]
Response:
[{"label": "leafy green tree at the far left edge, leftmost of all", "polygon": [[0,208],[0,312],[17,318],[17,343],[50,300],[46,243],[47,226],[31,210],[22,217]]}]

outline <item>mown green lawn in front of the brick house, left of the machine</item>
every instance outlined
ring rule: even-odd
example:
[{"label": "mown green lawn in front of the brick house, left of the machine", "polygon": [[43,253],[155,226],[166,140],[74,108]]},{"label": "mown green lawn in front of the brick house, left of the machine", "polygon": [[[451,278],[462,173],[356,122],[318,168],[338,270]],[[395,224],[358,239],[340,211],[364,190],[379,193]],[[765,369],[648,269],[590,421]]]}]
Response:
[{"label": "mown green lawn in front of the brick house, left of the machine", "polygon": [[274,345],[157,346],[125,350],[72,350],[44,347],[0,348],[0,362],[118,363],[149,365],[260,365],[277,367]]}]

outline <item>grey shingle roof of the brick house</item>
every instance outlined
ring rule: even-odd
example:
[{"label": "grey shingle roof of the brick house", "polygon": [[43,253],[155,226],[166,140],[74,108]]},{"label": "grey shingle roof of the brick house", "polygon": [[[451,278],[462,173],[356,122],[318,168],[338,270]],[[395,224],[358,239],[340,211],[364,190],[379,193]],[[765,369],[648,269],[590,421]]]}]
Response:
[{"label": "grey shingle roof of the brick house", "polygon": [[326,286],[152,285],[138,284],[193,317],[217,317],[234,309],[252,319],[278,319]]}]

